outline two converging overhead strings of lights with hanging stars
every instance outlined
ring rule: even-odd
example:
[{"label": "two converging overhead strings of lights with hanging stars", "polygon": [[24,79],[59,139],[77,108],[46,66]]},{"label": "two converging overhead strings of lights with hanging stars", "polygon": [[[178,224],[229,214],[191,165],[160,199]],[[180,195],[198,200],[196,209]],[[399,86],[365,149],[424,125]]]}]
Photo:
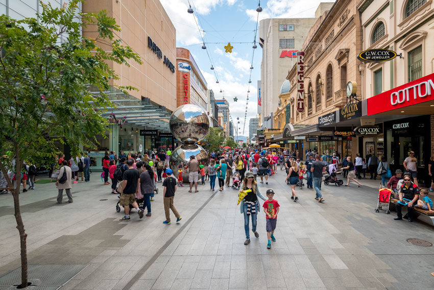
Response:
[{"label": "two converging overhead strings of lights with hanging stars", "polygon": [[[187,9],[187,12],[189,14],[195,14],[195,10],[191,7],[190,0],[187,0],[187,2],[188,2],[188,6],[189,6],[188,9]],[[191,3],[193,4],[193,7],[195,7],[194,3],[193,3],[193,0],[191,0]],[[248,108],[248,105],[249,105],[250,85],[252,83],[252,72],[253,72],[253,69],[254,69],[253,68],[253,59],[254,59],[254,55],[255,55],[255,49],[257,49],[257,46],[256,46],[256,36],[257,36],[257,31],[258,31],[259,13],[262,12],[262,7],[260,6],[260,0],[258,1],[258,7],[256,8],[256,12],[257,12],[257,16],[256,16],[255,30],[253,30],[253,32],[254,32],[254,39],[253,39],[253,46],[252,46],[252,61],[251,61],[251,65],[250,65],[250,74],[249,74],[248,90],[247,90],[247,98],[246,98],[246,111],[245,111],[245,114],[244,114],[244,122],[243,122],[243,135],[244,135],[244,131],[245,131],[245,128],[246,128],[247,108]],[[206,54],[207,54],[208,59],[209,59],[209,62],[211,64],[210,70],[213,71],[214,76],[215,76],[215,83],[219,84],[220,93],[224,93],[224,91],[222,90],[222,87],[220,85],[220,82],[219,82],[218,73],[214,69],[212,56],[210,55],[210,53],[209,53],[209,51],[208,51],[208,49],[206,47],[206,44],[221,44],[221,43],[225,43],[225,42],[207,42],[206,41],[206,37],[205,37],[205,30],[202,30],[199,27],[199,23],[200,23],[199,15],[197,15],[196,17],[194,17],[194,19],[195,19],[196,27],[198,28],[198,31],[199,31],[199,35],[201,36],[201,39],[202,39],[202,43],[201,43],[202,44],[202,49],[206,51]],[[198,20],[199,20],[199,23],[198,23]],[[200,23],[200,24],[202,25],[202,23]],[[239,30],[237,32],[239,32]],[[252,42],[232,42],[232,43],[252,43]],[[228,52],[228,51],[231,52],[232,48],[233,47],[230,46],[230,43],[228,43],[228,46],[225,47],[225,49],[227,50],[226,52]],[[224,94],[223,94],[223,99],[225,99]],[[235,97],[234,101],[236,101],[236,100],[237,100],[237,98]],[[230,122],[232,122],[232,124],[234,126],[236,126],[236,131],[238,132],[238,124],[240,123],[239,117],[236,118],[237,123],[234,123],[233,119],[232,119],[232,116],[230,114],[230,111],[229,111],[229,120],[230,120]]]}]

